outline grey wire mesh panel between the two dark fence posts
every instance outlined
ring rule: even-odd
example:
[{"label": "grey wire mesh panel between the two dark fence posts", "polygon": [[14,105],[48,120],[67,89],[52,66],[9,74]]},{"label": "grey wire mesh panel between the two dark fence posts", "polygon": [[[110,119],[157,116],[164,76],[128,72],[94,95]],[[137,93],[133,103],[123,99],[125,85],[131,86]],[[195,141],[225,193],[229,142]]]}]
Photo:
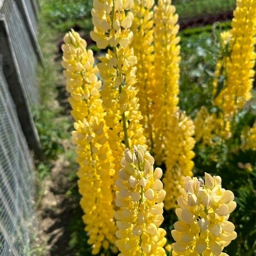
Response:
[{"label": "grey wire mesh panel between the two dark fence posts", "polygon": [[30,108],[38,103],[37,58],[15,0],[5,0],[0,13],[6,17],[10,41],[19,66],[22,86]]}]

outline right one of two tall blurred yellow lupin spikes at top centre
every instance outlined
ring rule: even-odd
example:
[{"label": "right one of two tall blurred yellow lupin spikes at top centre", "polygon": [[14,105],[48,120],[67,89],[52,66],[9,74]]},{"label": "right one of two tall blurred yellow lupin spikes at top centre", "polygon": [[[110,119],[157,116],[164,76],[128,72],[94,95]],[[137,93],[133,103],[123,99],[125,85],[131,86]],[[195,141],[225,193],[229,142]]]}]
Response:
[{"label": "right one of two tall blurred yellow lupin spikes at top centre", "polygon": [[165,159],[169,116],[179,101],[180,38],[178,15],[171,0],[158,0],[154,7],[154,69],[157,74],[154,92],[154,156],[157,163]]}]

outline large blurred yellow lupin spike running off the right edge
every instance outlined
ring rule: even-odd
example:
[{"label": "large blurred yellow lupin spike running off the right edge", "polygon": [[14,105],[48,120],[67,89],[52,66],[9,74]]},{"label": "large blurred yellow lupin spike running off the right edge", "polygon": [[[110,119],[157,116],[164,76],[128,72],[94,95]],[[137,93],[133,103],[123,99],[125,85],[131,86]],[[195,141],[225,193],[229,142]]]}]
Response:
[{"label": "large blurred yellow lupin spike running off the right edge", "polygon": [[237,0],[230,30],[228,51],[224,56],[226,81],[215,98],[215,104],[232,117],[251,99],[256,53],[256,0]]}]

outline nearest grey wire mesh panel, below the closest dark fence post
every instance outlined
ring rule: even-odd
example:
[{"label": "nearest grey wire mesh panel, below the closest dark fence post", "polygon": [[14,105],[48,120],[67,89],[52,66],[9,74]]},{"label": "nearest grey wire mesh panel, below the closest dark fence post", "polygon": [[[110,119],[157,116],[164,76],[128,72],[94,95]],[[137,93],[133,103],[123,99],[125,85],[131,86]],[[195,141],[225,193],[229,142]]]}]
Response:
[{"label": "nearest grey wire mesh panel, below the closest dark fence post", "polygon": [[36,233],[35,176],[1,63],[0,152],[0,255],[28,256]]}]

